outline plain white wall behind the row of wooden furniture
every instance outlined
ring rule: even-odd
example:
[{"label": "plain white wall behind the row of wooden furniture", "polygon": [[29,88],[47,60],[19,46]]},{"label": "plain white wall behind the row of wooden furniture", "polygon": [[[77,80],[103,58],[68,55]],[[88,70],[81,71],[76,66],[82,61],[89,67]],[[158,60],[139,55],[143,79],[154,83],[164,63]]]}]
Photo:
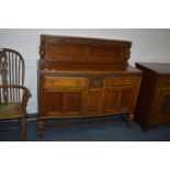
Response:
[{"label": "plain white wall behind the row of wooden furniture", "polygon": [[29,102],[29,113],[37,112],[37,75],[36,63],[39,58],[39,35],[75,35],[114,39],[127,39],[133,42],[129,63],[159,61],[170,63],[170,30],[114,30],[114,29],[36,29],[36,30],[0,30],[0,47],[19,50],[25,59],[26,79],[25,86],[32,92]]}]

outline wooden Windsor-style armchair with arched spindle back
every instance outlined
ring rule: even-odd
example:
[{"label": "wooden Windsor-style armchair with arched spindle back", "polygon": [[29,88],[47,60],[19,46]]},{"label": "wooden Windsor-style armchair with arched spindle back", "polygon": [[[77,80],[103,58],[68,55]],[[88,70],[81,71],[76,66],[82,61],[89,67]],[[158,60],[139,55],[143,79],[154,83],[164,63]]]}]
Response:
[{"label": "wooden Windsor-style armchair with arched spindle back", "polygon": [[25,66],[20,53],[0,48],[0,121],[18,120],[26,139],[26,105],[31,97],[24,87]]}]

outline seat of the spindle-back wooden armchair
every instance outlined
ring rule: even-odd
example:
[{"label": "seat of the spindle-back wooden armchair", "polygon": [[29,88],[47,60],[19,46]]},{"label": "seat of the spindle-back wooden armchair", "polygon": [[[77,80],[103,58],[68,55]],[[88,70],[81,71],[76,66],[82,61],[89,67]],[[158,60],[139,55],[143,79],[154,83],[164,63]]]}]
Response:
[{"label": "seat of the spindle-back wooden armchair", "polygon": [[20,103],[0,104],[0,120],[13,120],[23,117],[24,113]]}]

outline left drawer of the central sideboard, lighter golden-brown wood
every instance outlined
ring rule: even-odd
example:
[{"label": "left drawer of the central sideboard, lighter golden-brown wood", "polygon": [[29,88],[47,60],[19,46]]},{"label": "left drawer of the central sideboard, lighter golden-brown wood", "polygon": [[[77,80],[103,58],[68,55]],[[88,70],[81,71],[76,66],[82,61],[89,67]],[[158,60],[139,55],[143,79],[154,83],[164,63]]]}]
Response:
[{"label": "left drawer of the central sideboard, lighter golden-brown wood", "polygon": [[87,87],[86,78],[45,77],[44,88],[83,88]]}]

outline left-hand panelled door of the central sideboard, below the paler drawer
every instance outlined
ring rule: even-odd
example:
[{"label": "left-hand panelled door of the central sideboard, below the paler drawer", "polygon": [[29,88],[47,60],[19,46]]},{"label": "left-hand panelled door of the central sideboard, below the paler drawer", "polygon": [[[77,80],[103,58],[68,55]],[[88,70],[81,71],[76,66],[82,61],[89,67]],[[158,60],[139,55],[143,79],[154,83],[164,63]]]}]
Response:
[{"label": "left-hand panelled door of the central sideboard, below the paler drawer", "polygon": [[84,90],[46,89],[44,90],[44,116],[83,115]]}]

